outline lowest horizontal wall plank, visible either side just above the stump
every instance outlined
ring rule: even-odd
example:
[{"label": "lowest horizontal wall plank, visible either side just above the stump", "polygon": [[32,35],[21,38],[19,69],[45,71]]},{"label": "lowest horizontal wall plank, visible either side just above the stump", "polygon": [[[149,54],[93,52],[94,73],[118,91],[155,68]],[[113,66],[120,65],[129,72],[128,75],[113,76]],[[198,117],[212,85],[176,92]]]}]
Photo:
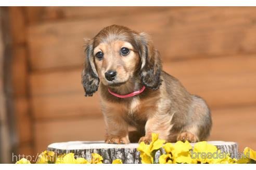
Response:
[{"label": "lowest horizontal wall plank, visible either side just above the stump", "polygon": [[[210,140],[236,141],[239,151],[255,144],[256,107],[240,107],[212,110],[213,127]],[[100,119],[41,121],[35,123],[36,152],[51,143],[71,140],[104,140],[105,122]],[[242,136],[242,137],[241,137]]]}]

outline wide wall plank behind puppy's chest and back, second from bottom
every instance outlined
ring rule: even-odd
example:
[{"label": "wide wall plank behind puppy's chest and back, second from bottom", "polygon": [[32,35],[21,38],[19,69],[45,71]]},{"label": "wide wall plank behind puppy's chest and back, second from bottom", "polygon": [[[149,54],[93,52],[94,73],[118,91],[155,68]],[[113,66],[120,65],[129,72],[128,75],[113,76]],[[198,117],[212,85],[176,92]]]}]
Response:
[{"label": "wide wall plank behind puppy's chest and back, second from bottom", "polygon": [[[166,62],[163,70],[178,78],[190,93],[203,97],[210,108],[256,103],[254,55]],[[31,75],[36,119],[100,113],[98,93],[84,97],[80,71]]]}]

